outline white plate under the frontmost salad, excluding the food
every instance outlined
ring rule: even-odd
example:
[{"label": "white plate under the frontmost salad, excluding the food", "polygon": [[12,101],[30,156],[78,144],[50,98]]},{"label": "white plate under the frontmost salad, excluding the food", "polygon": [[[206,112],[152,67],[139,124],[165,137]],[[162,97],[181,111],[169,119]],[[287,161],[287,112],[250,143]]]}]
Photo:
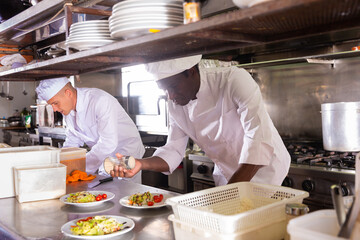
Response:
[{"label": "white plate under the frontmost salad, excluding the food", "polygon": [[83,219],[83,218],[78,218],[78,219],[75,219],[75,220],[72,220],[72,221],[69,221],[67,223],[65,223],[62,227],[61,227],[61,232],[63,234],[65,234],[66,236],[69,236],[69,237],[73,237],[73,238],[80,238],[80,239],[105,239],[105,238],[110,238],[110,237],[116,237],[116,236],[119,236],[119,235],[122,235],[122,234],[125,234],[127,232],[130,232],[134,227],[135,227],[135,223],[133,220],[131,220],[130,218],[126,218],[126,217],[120,217],[120,216],[112,216],[112,215],[104,215],[105,217],[113,217],[116,219],[116,221],[118,221],[119,223],[123,223],[123,222],[126,222],[126,224],[124,224],[124,227],[128,227],[128,228],[125,228],[121,231],[118,231],[118,232],[114,232],[114,233],[110,233],[110,234],[107,234],[107,235],[99,235],[99,236],[81,236],[81,235],[75,235],[75,234],[72,234],[71,232],[71,226],[75,226],[76,225],[76,222],[79,221],[80,219]]}]

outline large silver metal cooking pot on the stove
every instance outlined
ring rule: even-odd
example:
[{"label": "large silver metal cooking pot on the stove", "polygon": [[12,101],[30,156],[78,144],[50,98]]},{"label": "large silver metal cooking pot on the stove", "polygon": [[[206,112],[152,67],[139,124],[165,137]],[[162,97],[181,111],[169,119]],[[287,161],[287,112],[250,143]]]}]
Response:
[{"label": "large silver metal cooking pot on the stove", "polygon": [[360,102],[321,104],[324,149],[360,151]]}]

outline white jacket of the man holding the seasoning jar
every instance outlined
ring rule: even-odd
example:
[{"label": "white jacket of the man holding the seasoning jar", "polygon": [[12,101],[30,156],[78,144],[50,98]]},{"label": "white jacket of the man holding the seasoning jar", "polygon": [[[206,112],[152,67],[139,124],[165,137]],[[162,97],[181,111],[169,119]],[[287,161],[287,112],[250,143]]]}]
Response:
[{"label": "white jacket of the man holding the seasoning jar", "polygon": [[259,86],[244,69],[200,69],[200,89],[185,106],[169,102],[169,136],[155,156],[172,173],[190,137],[215,163],[215,184],[225,185],[239,164],[264,165],[252,182],[280,185],[290,155],[270,119]]}]

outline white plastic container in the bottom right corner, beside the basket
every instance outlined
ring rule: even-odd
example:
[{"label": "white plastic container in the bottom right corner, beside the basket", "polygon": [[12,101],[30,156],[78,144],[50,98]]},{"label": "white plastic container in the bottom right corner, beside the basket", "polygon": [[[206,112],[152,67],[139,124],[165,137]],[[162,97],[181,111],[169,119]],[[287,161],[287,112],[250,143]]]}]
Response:
[{"label": "white plastic container in the bottom right corner, beside the basket", "polygon": [[333,209],[318,210],[290,220],[287,231],[291,240],[344,240],[337,237],[340,226]]}]

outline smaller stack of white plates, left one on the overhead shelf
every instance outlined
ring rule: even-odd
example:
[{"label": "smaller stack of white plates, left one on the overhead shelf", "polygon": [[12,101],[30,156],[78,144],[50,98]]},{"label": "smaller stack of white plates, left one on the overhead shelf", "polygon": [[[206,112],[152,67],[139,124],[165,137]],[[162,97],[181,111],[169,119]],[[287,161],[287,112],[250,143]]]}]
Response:
[{"label": "smaller stack of white plates, left one on the overhead shelf", "polygon": [[78,50],[88,50],[115,42],[110,36],[108,20],[91,20],[71,25],[65,45]]}]

